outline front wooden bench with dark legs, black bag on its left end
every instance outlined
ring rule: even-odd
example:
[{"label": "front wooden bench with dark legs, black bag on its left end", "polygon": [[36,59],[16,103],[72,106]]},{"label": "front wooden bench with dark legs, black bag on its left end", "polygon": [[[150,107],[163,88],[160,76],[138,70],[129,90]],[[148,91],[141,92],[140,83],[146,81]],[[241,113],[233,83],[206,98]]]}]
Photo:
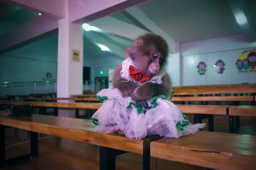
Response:
[{"label": "front wooden bench with dark legs, black bag on its left end", "polygon": [[[31,153],[5,160],[5,126],[31,132]],[[0,168],[17,160],[38,157],[38,133],[67,138],[100,146],[100,170],[115,170],[115,156],[127,152],[143,155],[143,170],[150,170],[150,142],[153,138],[129,139],[124,135],[101,134],[94,131],[90,120],[32,114],[27,117],[5,117],[0,111]],[[153,136],[159,139],[159,136]]]}]

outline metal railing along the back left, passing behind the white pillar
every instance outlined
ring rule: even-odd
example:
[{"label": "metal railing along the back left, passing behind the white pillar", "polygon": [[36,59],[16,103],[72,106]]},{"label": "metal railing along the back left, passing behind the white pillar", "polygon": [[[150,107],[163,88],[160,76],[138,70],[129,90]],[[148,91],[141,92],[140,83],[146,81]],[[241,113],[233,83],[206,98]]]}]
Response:
[{"label": "metal railing along the back left, passing behind the white pillar", "polygon": [[[83,90],[99,92],[108,85],[103,82],[84,81]],[[0,82],[0,96],[56,93],[56,81]]]}]

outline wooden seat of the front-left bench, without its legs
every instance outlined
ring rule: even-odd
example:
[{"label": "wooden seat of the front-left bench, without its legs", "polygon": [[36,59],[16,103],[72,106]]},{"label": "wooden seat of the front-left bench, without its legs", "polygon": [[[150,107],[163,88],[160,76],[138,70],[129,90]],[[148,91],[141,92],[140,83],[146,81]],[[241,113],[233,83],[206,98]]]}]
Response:
[{"label": "wooden seat of the front-left bench, without its legs", "polygon": [[143,149],[148,149],[150,142],[153,141],[152,138],[136,140],[119,134],[97,133],[92,121],[85,119],[40,114],[5,117],[3,111],[0,111],[0,124],[138,154],[143,154]]}]

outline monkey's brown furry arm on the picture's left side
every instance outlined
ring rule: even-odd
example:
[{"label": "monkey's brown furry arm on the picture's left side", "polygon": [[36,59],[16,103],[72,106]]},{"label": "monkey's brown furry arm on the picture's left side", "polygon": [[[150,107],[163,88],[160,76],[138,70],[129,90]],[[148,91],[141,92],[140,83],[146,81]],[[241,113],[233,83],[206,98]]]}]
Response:
[{"label": "monkey's brown furry arm on the picture's left side", "polygon": [[137,87],[137,84],[135,82],[129,81],[129,82],[123,82],[127,81],[124,80],[121,77],[122,65],[119,64],[113,74],[113,87],[118,88],[125,96],[130,96],[130,94],[133,92],[133,90]]}]

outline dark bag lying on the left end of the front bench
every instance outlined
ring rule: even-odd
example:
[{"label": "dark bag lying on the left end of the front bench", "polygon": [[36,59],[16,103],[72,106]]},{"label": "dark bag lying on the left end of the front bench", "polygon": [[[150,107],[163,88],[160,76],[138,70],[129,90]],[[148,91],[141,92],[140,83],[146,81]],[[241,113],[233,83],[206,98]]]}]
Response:
[{"label": "dark bag lying on the left end of the front bench", "polygon": [[11,117],[21,117],[30,116],[34,112],[34,108],[31,105],[16,105],[12,106],[10,109],[4,110],[6,116]]}]

